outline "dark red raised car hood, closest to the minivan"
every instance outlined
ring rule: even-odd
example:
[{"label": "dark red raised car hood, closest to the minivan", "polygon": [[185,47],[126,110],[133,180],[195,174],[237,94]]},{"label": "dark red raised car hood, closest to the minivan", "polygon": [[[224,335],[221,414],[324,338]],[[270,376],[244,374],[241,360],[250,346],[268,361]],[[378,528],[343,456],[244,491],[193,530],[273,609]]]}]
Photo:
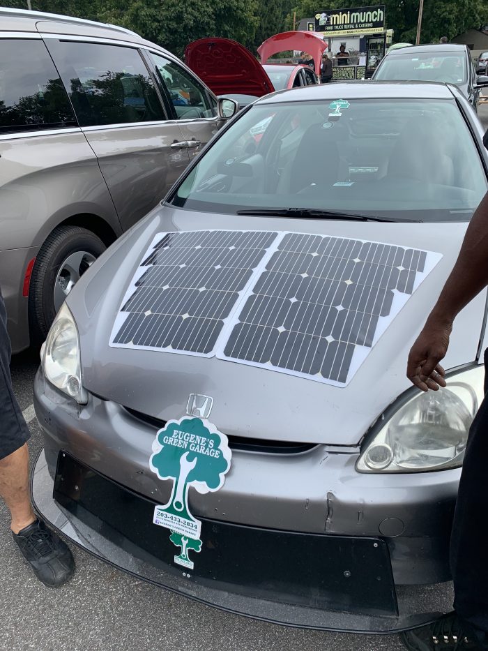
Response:
[{"label": "dark red raised car hood, closest to the minivan", "polygon": [[215,95],[262,97],[275,90],[261,63],[229,38],[200,38],[187,45],[186,65]]}]

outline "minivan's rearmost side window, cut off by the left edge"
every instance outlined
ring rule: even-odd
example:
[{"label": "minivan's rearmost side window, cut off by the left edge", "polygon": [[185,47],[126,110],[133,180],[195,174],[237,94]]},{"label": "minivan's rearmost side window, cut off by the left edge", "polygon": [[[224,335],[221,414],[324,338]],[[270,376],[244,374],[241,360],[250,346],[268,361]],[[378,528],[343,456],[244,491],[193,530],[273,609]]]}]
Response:
[{"label": "minivan's rearmost side window, cut off by the left edge", "polygon": [[42,40],[0,40],[0,133],[77,126]]}]

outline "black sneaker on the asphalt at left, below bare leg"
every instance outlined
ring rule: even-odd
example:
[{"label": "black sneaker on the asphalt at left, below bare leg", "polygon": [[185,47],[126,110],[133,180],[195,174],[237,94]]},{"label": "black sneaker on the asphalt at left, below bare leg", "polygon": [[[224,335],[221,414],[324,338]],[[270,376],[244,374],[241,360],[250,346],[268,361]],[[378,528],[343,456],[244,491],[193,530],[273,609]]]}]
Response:
[{"label": "black sneaker on the asphalt at left, below bare leg", "polygon": [[36,520],[18,534],[12,532],[12,535],[37,578],[44,585],[59,588],[73,576],[75,561],[68,546],[47,529],[43,521]]}]

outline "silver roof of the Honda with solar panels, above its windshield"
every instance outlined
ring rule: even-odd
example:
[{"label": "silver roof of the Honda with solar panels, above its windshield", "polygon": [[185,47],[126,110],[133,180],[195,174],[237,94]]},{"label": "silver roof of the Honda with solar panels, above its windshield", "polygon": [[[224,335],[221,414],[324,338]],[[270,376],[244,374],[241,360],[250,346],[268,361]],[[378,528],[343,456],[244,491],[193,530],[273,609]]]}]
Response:
[{"label": "silver roof of the Honda with solar panels, above its windshield", "polygon": [[446,84],[432,82],[335,82],[316,84],[291,91],[277,91],[259,100],[256,104],[277,102],[337,99],[452,99],[453,91]]}]

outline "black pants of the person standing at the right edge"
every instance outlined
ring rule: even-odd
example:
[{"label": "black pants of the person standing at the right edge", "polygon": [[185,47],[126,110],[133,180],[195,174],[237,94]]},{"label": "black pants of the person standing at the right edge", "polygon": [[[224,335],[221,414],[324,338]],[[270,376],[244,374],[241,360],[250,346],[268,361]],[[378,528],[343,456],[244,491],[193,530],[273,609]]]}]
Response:
[{"label": "black pants of the person standing at the right edge", "polygon": [[[485,350],[485,394],[488,389]],[[455,609],[488,634],[488,396],[471,425],[451,537]]]}]

